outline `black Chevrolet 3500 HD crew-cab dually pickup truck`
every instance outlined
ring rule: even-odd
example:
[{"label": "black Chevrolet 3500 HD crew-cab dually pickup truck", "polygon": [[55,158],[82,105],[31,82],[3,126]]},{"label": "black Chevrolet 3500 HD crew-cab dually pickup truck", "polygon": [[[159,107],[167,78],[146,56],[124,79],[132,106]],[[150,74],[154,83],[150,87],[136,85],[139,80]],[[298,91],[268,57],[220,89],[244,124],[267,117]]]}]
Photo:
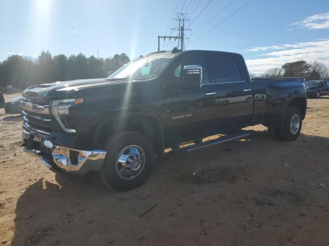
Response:
[{"label": "black Chevrolet 3500 HD crew-cab dually pickup truck", "polygon": [[[306,114],[303,78],[250,79],[240,54],[190,50],[140,56],[103,79],[27,88],[24,151],[53,171],[99,173],[108,187],[140,186],[154,156],[247,137],[263,124],[298,137]],[[203,141],[215,134],[218,139]],[[180,147],[187,141],[194,145]]]}]

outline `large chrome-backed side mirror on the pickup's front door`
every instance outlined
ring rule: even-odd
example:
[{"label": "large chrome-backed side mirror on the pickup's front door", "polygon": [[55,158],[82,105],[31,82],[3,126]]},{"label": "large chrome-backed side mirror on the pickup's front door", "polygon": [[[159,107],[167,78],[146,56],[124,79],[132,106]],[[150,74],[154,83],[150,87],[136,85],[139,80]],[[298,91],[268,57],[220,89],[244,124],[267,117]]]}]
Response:
[{"label": "large chrome-backed side mirror on the pickup's front door", "polygon": [[184,66],[181,88],[198,89],[202,85],[202,66]]}]

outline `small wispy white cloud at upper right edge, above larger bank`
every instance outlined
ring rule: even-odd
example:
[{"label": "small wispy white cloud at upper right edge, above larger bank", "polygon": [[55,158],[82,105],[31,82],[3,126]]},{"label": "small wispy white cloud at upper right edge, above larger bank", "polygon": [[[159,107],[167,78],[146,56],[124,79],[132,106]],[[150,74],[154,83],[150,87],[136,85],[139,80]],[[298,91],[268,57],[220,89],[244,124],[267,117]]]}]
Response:
[{"label": "small wispy white cloud at upper right edge, above larger bank", "polygon": [[308,16],[304,20],[295,22],[291,25],[296,25],[299,26],[300,28],[306,28],[306,29],[329,28],[329,12]]}]

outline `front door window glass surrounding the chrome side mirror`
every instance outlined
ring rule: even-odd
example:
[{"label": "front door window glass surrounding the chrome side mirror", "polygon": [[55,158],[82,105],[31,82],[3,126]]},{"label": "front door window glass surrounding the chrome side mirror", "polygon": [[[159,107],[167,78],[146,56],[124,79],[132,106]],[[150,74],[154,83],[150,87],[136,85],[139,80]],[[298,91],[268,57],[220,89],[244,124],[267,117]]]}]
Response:
[{"label": "front door window glass surrounding the chrome side mirror", "polygon": [[182,70],[184,69],[184,66],[187,65],[201,65],[202,66],[202,73],[203,73],[203,79],[202,84],[209,83],[209,76],[208,76],[208,70],[206,65],[206,60],[203,55],[189,55],[185,57],[181,64],[179,64],[176,69],[174,70],[174,76],[177,78],[181,78]]}]

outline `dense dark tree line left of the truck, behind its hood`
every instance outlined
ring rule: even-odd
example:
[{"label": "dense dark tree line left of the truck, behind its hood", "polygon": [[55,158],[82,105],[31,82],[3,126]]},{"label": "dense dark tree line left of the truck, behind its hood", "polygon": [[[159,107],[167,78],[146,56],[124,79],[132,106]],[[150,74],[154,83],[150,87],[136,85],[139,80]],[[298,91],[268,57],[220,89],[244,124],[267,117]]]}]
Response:
[{"label": "dense dark tree line left of the truck, behind its hood", "polygon": [[108,58],[86,57],[82,53],[69,57],[63,54],[51,56],[49,51],[42,51],[37,59],[12,55],[0,62],[0,88],[12,85],[23,90],[54,81],[104,78],[129,61],[125,53]]}]

